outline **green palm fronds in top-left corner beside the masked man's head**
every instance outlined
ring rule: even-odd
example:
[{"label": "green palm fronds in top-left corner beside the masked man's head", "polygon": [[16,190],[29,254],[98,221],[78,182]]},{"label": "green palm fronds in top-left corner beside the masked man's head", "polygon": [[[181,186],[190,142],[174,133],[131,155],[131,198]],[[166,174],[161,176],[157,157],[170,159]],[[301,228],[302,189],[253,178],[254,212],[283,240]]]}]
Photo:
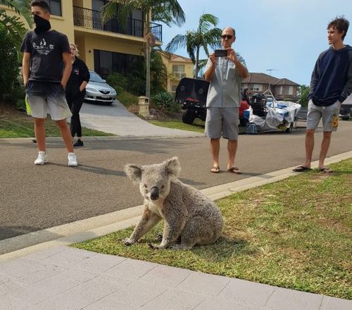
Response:
[{"label": "green palm fronds in top-left corner beside the masked man's head", "polygon": [[6,29],[15,44],[19,46],[25,32],[32,26],[32,14],[29,9],[30,0],[0,0],[0,4],[13,8],[15,13],[23,16],[28,24],[26,27],[19,16],[8,16],[4,8],[0,8],[0,27]]}]

